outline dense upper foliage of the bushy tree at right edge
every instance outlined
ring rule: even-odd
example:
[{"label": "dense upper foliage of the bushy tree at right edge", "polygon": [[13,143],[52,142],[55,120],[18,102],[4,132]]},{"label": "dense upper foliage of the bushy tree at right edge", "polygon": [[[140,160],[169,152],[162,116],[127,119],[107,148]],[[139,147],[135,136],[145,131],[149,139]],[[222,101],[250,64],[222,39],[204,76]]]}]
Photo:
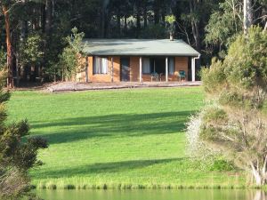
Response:
[{"label": "dense upper foliage of the bushy tree at right edge", "polygon": [[267,35],[262,28],[251,28],[248,36],[238,36],[223,62],[214,60],[210,69],[203,69],[206,92],[219,92],[221,103],[245,108],[261,108],[257,89],[266,92]]}]

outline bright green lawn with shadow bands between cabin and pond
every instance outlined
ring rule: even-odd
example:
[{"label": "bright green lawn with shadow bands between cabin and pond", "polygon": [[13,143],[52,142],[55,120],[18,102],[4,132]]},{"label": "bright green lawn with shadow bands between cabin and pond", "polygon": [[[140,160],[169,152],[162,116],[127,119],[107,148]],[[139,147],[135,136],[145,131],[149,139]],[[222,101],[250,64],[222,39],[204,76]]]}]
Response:
[{"label": "bright green lawn with shadow bands between cabin and pond", "polygon": [[243,184],[186,154],[184,123],[203,104],[199,87],[13,92],[10,122],[27,118],[50,144],[30,172],[37,188],[181,188]]}]

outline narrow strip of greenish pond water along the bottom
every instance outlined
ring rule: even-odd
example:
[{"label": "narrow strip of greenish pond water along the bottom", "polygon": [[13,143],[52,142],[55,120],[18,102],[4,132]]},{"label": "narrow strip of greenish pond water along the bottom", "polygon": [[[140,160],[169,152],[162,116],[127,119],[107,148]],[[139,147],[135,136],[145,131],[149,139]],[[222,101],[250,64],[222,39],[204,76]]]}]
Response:
[{"label": "narrow strip of greenish pond water along the bottom", "polygon": [[245,189],[181,190],[36,190],[45,200],[266,200],[262,191]]}]

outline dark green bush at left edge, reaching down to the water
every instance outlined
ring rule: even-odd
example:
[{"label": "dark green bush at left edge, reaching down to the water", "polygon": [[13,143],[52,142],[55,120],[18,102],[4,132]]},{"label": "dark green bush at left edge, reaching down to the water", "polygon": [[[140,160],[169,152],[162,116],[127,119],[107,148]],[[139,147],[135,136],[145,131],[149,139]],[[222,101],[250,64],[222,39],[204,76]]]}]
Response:
[{"label": "dark green bush at left edge, reaching down to the water", "polygon": [[[1,83],[4,81],[1,75]],[[37,150],[47,148],[42,138],[22,138],[28,136],[28,122],[21,121],[7,125],[5,102],[10,98],[10,92],[0,87],[0,197],[19,198],[28,194],[28,170],[41,164],[37,160]]]}]

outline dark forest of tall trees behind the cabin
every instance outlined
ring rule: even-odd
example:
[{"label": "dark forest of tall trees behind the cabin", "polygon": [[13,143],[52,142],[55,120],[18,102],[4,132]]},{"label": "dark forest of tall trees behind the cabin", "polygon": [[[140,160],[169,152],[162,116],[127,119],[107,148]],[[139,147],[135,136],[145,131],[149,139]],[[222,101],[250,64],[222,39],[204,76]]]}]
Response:
[{"label": "dark forest of tall trees behind the cabin", "polygon": [[[266,28],[267,0],[1,0],[0,67],[7,85],[60,81],[64,49],[85,38],[182,39],[201,64],[225,57],[250,25]],[[245,21],[244,21],[245,19]],[[68,37],[69,36],[69,37]]]}]

